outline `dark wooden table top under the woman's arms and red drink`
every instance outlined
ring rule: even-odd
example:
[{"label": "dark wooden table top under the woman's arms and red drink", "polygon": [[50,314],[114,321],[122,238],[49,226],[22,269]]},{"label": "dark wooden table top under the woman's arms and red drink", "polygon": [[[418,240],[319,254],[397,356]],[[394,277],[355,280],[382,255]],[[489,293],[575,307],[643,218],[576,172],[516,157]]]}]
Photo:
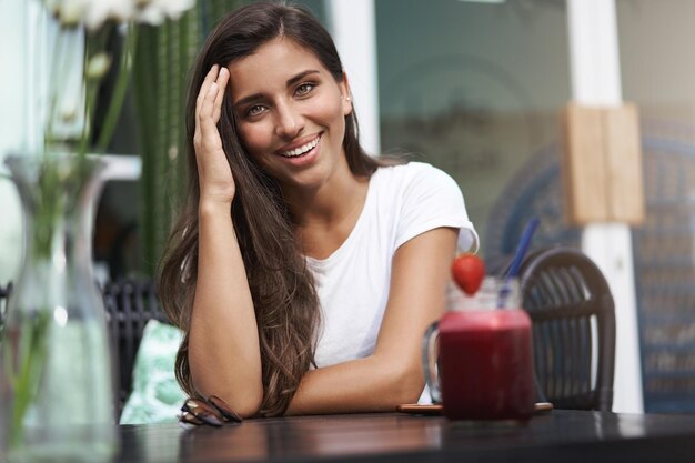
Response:
[{"label": "dark wooden table top under the woman's arms and red drink", "polygon": [[553,411],[526,424],[399,413],[120,426],[117,462],[695,462],[695,415]]}]

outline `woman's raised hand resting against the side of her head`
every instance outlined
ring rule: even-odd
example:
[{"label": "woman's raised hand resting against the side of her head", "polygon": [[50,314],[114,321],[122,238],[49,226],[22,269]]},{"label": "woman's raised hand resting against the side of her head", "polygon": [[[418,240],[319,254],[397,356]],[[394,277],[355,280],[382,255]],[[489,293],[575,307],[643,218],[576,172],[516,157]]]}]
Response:
[{"label": "woman's raised hand resting against the side of her head", "polygon": [[218,130],[228,82],[229,70],[214,64],[205,76],[195,102],[193,147],[198,163],[201,204],[229,207],[234,199],[234,178]]}]

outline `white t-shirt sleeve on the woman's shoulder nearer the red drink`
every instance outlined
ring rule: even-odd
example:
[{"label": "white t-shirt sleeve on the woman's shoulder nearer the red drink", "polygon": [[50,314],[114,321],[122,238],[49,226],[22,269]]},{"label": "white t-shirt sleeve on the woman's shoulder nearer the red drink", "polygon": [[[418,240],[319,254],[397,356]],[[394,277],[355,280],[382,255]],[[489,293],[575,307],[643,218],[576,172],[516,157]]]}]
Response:
[{"label": "white t-shirt sleeve on the woman's shoulder nearer the red drink", "polygon": [[461,189],[447,173],[425,163],[411,162],[403,183],[403,201],[395,245],[426,231],[459,229],[459,250],[477,251],[477,233],[469,220]]}]

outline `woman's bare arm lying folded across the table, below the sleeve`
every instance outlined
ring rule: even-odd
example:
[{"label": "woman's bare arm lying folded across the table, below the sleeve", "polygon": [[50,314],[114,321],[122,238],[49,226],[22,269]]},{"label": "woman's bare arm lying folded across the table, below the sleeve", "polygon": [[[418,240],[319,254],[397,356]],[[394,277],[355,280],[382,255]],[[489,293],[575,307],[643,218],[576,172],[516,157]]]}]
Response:
[{"label": "woman's bare arm lying folded across the table, below the sleeve", "polygon": [[439,228],[397,249],[374,353],[308,372],[288,414],[393,411],[417,400],[422,336],[444,312],[456,236],[457,230]]}]

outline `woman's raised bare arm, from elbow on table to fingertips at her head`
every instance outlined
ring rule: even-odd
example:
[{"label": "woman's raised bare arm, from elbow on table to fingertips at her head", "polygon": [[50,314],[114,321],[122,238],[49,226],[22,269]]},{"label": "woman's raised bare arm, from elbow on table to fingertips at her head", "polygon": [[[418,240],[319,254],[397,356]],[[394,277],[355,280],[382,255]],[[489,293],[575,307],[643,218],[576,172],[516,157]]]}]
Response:
[{"label": "woman's raised bare arm, from elbow on table to fingertips at her head", "polygon": [[219,395],[250,416],[259,410],[263,385],[253,301],[230,218],[235,185],[216,128],[228,80],[225,68],[213,67],[195,110],[200,203],[189,362],[199,393]]}]

